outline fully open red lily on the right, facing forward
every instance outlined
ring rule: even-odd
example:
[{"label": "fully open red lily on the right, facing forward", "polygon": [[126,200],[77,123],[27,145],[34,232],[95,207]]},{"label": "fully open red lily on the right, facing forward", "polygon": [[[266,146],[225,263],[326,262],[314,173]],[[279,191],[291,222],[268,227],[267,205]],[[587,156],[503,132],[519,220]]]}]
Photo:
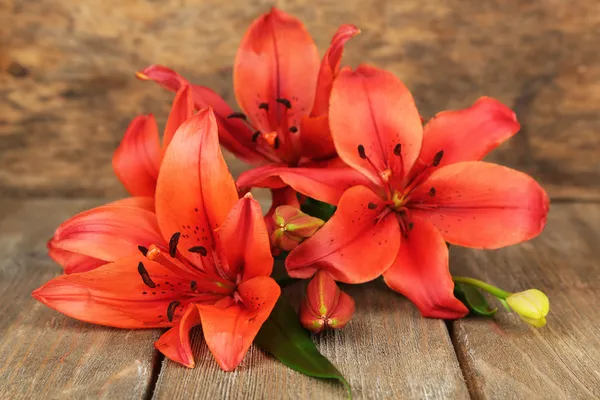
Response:
[{"label": "fully open red lily on the right, facing forward", "polygon": [[360,283],[383,273],[424,316],[464,316],[446,242],[495,249],[533,238],[546,222],[549,200],[538,183],[479,161],[519,130],[514,113],[481,98],[423,128],[408,89],[370,66],[339,73],[330,107],[340,158],[377,189],[347,190],[334,216],[288,256],[290,276],[326,269]]}]

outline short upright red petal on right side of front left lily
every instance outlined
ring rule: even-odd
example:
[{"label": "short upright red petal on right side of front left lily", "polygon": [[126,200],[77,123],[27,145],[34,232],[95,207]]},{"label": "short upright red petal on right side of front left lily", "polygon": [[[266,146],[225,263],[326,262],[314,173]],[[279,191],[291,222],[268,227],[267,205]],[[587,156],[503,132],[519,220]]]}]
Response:
[{"label": "short upright red petal on right side of front left lily", "polygon": [[251,194],[237,202],[216,232],[224,244],[223,253],[233,281],[240,273],[243,281],[271,275],[273,257],[269,234],[260,204]]}]

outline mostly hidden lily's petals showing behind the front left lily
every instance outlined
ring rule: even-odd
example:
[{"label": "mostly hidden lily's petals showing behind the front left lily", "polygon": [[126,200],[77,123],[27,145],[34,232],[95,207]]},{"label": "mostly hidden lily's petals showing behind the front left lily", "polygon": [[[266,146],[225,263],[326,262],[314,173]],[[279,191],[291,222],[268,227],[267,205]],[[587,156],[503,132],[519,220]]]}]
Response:
[{"label": "mostly hidden lily's petals showing behind the front left lily", "polygon": [[[163,135],[162,148],[152,114],[136,117],[127,128],[113,156],[113,169],[129,199],[98,207],[63,222],[48,241],[48,253],[65,273],[85,272],[107,262],[117,261],[162,240],[154,212],[154,192],[158,171],[167,146],[179,126],[193,115],[189,86],[180,88],[173,101]],[[132,226],[138,229],[132,230]]]}]

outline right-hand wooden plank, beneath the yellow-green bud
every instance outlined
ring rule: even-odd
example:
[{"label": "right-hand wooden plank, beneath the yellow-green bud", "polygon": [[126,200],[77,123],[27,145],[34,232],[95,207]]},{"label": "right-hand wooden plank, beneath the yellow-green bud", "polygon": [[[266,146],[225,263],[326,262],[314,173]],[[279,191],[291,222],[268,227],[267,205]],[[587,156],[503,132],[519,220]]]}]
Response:
[{"label": "right-hand wooden plank, beneath the yellow-green bud", "polygon": [[509,291],[550,298],[548,324],[494,319],[454,322],[453,339],[477,399],[600,398],[600,205],[558,204],[530,243],[497,251],[452,249],[455,273]]}]

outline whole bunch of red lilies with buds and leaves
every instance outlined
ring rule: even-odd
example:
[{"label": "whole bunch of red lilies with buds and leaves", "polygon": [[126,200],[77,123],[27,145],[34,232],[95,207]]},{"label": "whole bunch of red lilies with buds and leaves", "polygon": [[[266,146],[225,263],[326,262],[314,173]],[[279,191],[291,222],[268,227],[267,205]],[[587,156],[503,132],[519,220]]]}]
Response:
[{"label": "whole bunch of red lilies with buds and leaves", "polygon": [[[495,249],[544,228],[540,185],[481,161],[517,133],[515,114],[484,97],[424,123],[392,73],[340,67],[359,32],[341,26],[320,60],[298,19],[260,16],[234,61],[241,111],[167,67],[138,72],[176,93],[162,143],[152,115],[131,122],[113,157],[131,197],[58,227],[48,249],[64,274],[33,296],[90,323],[169,328],[155,346],[187,367],[189,331],[201,325],[226,371],[256,342],[322,377],[339,374],[302,327],[349,323],[355,303],[339,282],[382,277],[424,317],[444,319],[492,315],[485,291],[543,326],[542,292],[512,294],[448,268],[449,244]],[[220,145],[254,168],[235,182]],[[264,216],[257,187],[272,193]],[[273,272],[274,258],[286,273]],[[308,281],[299,310],[280,299],[296,279]],[[302,357],[321,357],[325,373]]]}]

